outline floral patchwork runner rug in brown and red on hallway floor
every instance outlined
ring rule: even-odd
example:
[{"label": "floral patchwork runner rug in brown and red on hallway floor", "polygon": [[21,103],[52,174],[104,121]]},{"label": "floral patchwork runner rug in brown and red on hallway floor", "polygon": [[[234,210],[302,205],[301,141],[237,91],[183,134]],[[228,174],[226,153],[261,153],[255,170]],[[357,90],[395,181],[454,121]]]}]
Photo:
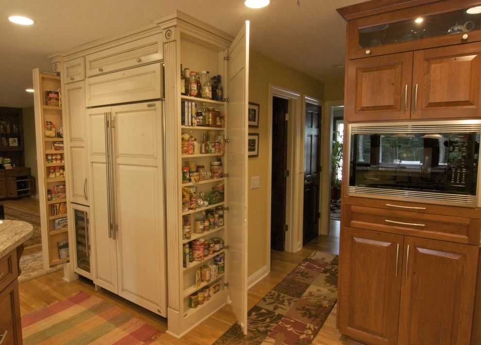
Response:
[{"label": "floral patchwork runner rug in brown and red on hallway floor", "polygon": [[214,345],[310,344],[337,300],[338,256],[315,251],[247,313],[247,335],[238,323]]}]

